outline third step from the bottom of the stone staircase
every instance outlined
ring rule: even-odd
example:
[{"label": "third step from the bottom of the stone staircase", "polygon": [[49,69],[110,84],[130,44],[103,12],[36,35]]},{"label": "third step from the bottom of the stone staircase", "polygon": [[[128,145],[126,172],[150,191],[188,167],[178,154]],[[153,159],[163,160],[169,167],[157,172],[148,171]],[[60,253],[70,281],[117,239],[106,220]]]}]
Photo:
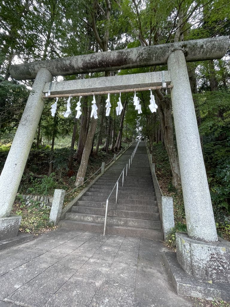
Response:
[{"label": "third step from the bottom of the stone staircase", "polygon": [[[72,212],[103,216],[105,215],[105,208],[73,206]],[[151,212],[108,209],[107,214],[108,216],[117,216],[117,217],[125,217],[125,218],[128,217],[128,218],[144,219],[144,220],[159,220],[159,213],[151,213]]]}]

